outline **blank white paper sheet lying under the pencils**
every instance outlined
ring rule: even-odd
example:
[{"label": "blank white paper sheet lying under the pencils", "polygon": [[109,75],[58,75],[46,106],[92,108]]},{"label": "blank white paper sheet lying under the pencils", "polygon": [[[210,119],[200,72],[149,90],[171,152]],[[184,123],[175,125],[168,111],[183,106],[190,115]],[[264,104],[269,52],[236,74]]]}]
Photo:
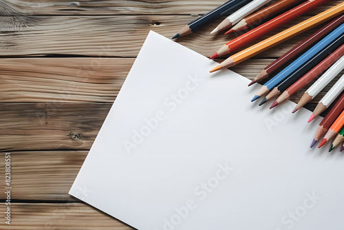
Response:
[{"label": "blank white paper sheet lying under the pencils", "polygon": [[344,160],[321,118],[150,32],[69,194],[140,230],[343,229]]}]

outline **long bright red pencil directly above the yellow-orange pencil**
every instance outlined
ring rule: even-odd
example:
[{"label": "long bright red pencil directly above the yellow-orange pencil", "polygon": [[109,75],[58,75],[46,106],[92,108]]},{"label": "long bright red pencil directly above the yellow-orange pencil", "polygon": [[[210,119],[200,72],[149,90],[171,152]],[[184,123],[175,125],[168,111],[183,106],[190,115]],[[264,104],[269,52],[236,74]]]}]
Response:
[{"label": "long bright red pencil directly above the yellow-orange pencil", "polygon": [[328,0],[320,0],[320,1],[308,0],[305,3],[302,3],[301,5],[297,6],[296,8],[293,8],[292,10],[288,10],[287,12],[281,14],[280,16],[275,17],[275,19],[271,19],[270,21],[264,23],[263,25],[259,25],[257,28],[248,31],[245,34],[241,34],[241,36],[238,36],[232,41],[229,41],[228,43],[222,45],[222,48],[219,48],[219,50],[217,50],[217,52],[215,52],[215,54],[211,56],[211,59],[216,58],[218,56],[223,56],[225,54],[228,54],[230,52],[233,52],[241,48],[242,46],[250,43],[251,41],[254,41],[255,39],[258,39],[264,34],[272,30],[275,30],[275,28],[278,28],[279,26],[285,23],[288,23],[288,21],[291,21],[292,19],[299,17],[305,12],[309,12],[316,6],[320,6],[326,1]]}]

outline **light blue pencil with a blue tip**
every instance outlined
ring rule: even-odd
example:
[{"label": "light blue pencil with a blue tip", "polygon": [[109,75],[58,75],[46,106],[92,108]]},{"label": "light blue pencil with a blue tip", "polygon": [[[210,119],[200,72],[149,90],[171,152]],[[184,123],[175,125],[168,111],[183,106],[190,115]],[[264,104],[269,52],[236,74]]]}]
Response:
[{"label": "light blue pencil with a blue tip", "polygon": [[330,45],[333,41],[335,41],[341,34],[344,32],[344,23],[338,26],[335,30],[327,34],[325,38],[321,39],[318,43],[312,46],[309,50],[303,53],[299,58],[295,61],[290,63],[287,67],[285,67],[281,72],[279,72],[276,76],[274,76],[270,81],[265,83],[257,94],[252,98],[252,101],[257,100],[260,96],[267,94],[269,90],[272,90],[275,85],[279,84],[283,79],[286,79],[292,72],[297,70],[301,67],[304,63],[308,60],[312,59],[317,53],[321,52],[321,50],[325,49],[328,45]]}]

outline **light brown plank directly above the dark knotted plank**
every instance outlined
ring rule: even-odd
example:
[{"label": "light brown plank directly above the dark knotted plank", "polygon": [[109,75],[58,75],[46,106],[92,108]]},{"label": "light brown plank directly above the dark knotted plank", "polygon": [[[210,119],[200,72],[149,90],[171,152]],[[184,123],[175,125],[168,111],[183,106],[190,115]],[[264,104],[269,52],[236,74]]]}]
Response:
[{"label": "light brown plank directly above the dark knotted plank", "polygon": [[[0,59],[0,102],[45,102],[48,103],[48,109],[54,103],[61,102],[112,103],[134,60]],[[253,79],[273,60],[275,59],[250,59],[232,70]],[[324,92],[321,92],[320,96],[323,95]]]}]

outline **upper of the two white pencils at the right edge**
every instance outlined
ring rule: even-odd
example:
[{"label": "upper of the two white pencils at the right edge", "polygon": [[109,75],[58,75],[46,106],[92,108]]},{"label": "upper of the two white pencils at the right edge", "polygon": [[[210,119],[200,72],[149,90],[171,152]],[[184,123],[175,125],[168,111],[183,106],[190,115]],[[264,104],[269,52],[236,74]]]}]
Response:
[{"label": "upper of the two white pencils at the right edge", "polygon": [[344,56],[336,61],[330,69],[328,69],[305,93],[301,96],[299,103],[295,109],[301,108],[303,105],[312,101],[312,99],[323,90],[342,70],[344,69]]}]

